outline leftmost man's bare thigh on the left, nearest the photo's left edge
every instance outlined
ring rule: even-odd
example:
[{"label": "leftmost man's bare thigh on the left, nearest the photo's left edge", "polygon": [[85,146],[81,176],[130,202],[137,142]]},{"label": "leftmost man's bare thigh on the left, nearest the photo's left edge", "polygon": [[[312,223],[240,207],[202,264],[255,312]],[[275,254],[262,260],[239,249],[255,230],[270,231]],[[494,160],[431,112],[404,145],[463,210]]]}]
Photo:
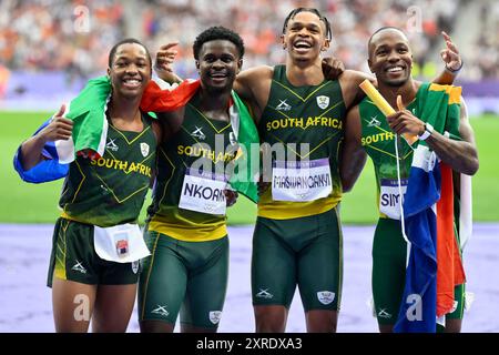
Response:
[{"label": "leftmost man's bare thigh on the left, nearest the photo's left edge", "polygon": [[88,332],[96,286],[53,277],[52,306],[55,332]]}]

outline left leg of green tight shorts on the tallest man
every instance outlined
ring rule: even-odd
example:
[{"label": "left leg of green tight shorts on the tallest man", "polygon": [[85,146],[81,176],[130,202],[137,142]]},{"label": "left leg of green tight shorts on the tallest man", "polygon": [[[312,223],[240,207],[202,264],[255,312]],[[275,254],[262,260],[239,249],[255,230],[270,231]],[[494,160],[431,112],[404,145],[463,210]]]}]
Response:
[{"label": "left leg of green tight shorts on the tallest man", "polygon": [[253,234],[252,298],[254,306],[289,307],[296,288],[296,255],[274,224],[258,217]]}]

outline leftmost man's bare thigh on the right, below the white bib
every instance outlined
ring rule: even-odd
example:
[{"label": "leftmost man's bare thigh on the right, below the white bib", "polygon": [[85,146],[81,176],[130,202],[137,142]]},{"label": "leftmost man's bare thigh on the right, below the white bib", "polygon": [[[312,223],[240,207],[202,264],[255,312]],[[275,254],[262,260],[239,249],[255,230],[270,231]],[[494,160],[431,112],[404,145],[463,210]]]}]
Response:
[{"label": "leftmost man's bare thigh on the right, below the white bib", "polygon": [[92,317],[94,333],[124,333],[135,304],[136,283],[99,285]]}]

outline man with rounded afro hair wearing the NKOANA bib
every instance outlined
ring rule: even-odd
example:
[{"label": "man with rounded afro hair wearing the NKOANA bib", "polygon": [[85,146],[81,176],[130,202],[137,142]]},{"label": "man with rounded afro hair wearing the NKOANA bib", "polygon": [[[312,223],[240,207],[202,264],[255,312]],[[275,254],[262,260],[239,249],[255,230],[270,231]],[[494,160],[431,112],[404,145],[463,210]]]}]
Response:
[{"label": "man with rounded afro hair wearing the NKOANA bib", "polygon": [[179,314],[182,332],[216,332],[225,301],[225,207],[234,202],[225,172],[237,151],[228,109],[244,44],[214,27],[196,38],[193,52],[201,89],[185,106],[160,115],[166,140],[145,232],[152,255],[140,278],[142,332],[173,332]]}]

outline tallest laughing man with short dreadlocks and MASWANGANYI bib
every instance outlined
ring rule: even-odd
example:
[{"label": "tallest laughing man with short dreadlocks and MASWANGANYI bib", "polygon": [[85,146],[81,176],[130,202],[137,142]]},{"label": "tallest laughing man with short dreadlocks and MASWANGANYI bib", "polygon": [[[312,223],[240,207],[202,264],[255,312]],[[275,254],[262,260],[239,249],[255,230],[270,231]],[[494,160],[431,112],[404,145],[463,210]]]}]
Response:
[{"label": "tallest laughing man with short dreadlocks and MASWANGANYI bib", "polygon": [[[281,38],[287,51],[284,65],[248,69],[234,82],[251,105],[264,146],[276,153],[281,145],[285,156],[272,156],[272,176],[263,176],[272,186],[258,202],[252,256],[256,332],[285,331],[296,285],[307,332],[336,332],[343,276],[337,211],[343,122],[347,109],[364,97],[358,84],[374,79],[352,70],[325,77],[320,52],[329,48],[332,30],[316,9],[294,9]],[[163,49],[156,67],[170,72],[172,52]],[[450,51],[446,55],[447,63],[455,59]],[[452,79],[445,72],[438,81]]]}]

